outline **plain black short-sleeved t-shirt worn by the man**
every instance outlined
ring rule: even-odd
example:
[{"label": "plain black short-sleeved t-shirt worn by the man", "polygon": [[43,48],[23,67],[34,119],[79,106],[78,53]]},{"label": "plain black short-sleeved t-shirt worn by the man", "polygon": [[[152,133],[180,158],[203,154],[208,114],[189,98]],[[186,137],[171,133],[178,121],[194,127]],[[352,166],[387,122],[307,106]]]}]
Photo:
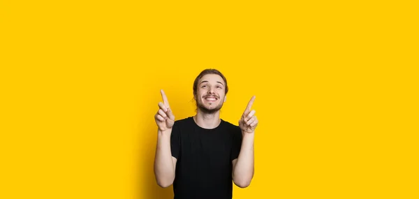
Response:
[{"label": "plain black short-sleeved t-shirt worn by the man", "polygon": [[216,128],[198,126],[193,117],[175,121],[172,156],[177,159],[175,199],[231,199],[232,161],[242,145],[239,126],[223,121]]}]

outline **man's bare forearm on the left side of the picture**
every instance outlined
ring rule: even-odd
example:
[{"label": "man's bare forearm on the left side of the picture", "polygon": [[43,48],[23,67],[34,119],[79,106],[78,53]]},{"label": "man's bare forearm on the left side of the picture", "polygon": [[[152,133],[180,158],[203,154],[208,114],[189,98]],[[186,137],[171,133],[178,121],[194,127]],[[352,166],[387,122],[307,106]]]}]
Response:
[{"label": "man's bare forearm on the left side of the picture", "polygon": [[170,135],[171,129],[166,132],[159,131],[157,138],[154,175],[156,175],[157,184],[161,187],[170,186],[175,179],[175,167],[170,151]]}]

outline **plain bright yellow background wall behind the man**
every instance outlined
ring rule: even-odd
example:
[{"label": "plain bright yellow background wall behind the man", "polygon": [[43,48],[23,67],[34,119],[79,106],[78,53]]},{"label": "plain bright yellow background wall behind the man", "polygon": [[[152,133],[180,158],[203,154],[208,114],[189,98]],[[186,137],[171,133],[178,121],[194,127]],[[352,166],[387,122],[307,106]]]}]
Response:
[{"label": "plain bright yellow background wall behind the man", "polygon": [[218,68],[260,121],[239,198],[419,198],[415,1],[0,1],[0,198],[171,198],[152,164]]}]

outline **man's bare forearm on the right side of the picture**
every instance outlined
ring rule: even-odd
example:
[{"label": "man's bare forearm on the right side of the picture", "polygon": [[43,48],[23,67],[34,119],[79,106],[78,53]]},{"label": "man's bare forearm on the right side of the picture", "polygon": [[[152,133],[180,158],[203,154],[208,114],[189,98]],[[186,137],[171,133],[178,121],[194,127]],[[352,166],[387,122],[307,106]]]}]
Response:
[{"label": "man's bare forearm on the right side of the picture", "polygon": [[254,135],[243,133],[242,148],[234,168],[233,180],[237,186],[249,186],[254,172]]}]

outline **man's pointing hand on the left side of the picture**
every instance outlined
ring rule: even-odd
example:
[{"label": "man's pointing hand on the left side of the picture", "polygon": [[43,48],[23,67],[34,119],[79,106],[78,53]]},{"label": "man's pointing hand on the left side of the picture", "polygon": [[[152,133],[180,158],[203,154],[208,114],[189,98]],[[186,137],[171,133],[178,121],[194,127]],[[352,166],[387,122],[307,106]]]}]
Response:
[{"label": "man's pointing hand on the left side of the picture", "polygon": [[166,131],[172,129],[173,124],[175,124],[175,116],[172,113],[172,110],[169,106],[168,98],[164,94],[163,90],[160,90],[161,98],[163,98],[163,103],[159,102],[159,111],[154,115],[157,126],[159,126],[159,131]]}]

